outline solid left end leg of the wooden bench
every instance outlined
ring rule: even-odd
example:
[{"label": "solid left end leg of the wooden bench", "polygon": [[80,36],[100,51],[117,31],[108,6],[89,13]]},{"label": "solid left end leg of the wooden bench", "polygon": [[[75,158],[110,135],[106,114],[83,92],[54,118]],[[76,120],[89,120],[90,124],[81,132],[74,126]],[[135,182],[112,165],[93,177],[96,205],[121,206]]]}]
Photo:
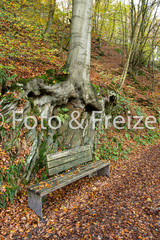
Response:
[{"label": "solid left end leg of the wooden bench", "polygon": [[42,219],[42,197],[28,190],[28,206]]}]

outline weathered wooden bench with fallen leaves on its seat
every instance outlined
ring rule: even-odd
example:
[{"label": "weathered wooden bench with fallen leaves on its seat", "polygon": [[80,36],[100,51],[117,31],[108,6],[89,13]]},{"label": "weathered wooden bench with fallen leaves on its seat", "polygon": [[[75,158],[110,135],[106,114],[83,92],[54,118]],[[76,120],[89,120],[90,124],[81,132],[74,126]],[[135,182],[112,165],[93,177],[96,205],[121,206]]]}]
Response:
[{"label": "weathered wooden bench with fallen leaves on its seat", "polygon": [[42,198],[48,193],[86,176],[110,175],[109,163],[92,161],[89,145],[47,155],[47,168],[50,177],[56,176],[28,187],[28,205],[40,218],[43,218]]}]

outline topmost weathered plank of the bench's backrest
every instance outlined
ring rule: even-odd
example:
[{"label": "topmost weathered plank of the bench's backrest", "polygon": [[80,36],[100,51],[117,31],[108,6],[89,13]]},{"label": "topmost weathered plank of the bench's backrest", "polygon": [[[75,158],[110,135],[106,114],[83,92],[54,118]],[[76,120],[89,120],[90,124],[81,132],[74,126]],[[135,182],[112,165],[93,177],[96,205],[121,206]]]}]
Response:
[{"label": "topmost weathered plank of the bench's backrest", "polygon": [[58,153],[48,154],[47,161],[52,161],[52,160],[55,160],[58,158],[66,157],[69,155],[74,155],[76,153],[83,152],[83,151],[89,151],[89,150],[91,150],[90,145],[86,145],[86,146],[76,147],[76,148],[58,152]]}]

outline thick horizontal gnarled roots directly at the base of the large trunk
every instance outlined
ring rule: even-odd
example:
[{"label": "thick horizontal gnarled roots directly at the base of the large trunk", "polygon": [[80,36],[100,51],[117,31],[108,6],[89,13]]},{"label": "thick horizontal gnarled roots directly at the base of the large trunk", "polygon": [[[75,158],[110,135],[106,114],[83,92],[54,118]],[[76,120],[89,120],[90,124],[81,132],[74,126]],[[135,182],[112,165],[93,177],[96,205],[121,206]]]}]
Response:
[{"label": "thick horizontal gnarled roots directly at the base of the large trunk", "polygon": [[52,106],[60,106],[67,104],[70,99],[79,99],[85,106],[90,106],[92,109],[101,109],[96,94],[92,86],[81,85],[81,88],[76,88],[69,80],[55,84],[53,86],[46,85],[42,79],[35,78],[28,82],[25,86],[27,97],[34,98],[37,105],[43,106],[46,103],[51,103]]}]

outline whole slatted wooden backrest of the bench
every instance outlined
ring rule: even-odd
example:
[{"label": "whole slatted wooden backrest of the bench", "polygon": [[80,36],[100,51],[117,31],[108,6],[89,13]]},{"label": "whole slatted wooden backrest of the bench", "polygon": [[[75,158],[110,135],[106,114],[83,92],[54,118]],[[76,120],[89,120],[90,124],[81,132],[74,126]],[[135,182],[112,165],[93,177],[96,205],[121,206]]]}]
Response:
[{"label": "whole slatted wooden backrest of the bench", "polygon": [[71,150],[47,155],[48,175],[63,172],[77,165],[87,163],[92,160],[90,145],[73,148]]}]

